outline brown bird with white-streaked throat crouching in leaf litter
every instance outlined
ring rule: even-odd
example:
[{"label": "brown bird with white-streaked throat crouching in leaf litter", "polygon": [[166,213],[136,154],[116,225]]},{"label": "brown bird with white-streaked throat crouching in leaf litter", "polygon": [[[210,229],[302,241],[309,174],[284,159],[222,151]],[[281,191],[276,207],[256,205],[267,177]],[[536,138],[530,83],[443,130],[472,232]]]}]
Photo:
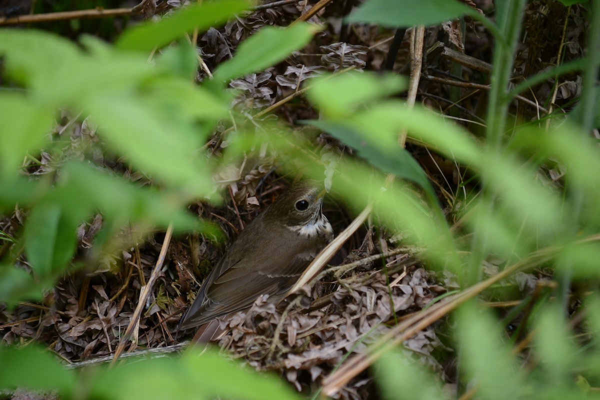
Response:
[{"label": "brown bird with white-streaked throat crouching in leaf litter", "polygon": [[203,282],[178,329],[199,326],[193,342],[208,342],[220,330],[215,318],[249,308],[261,294],[283,298],[333,237],[323,194],[317,181],[298,182],[254,218]]}]

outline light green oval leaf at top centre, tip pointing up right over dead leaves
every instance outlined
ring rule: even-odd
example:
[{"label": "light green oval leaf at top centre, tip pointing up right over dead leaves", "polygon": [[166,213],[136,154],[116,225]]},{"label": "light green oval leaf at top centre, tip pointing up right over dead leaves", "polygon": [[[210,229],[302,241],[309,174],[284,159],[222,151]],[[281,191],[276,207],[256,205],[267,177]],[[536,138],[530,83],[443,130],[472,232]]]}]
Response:
[{"label": "light green oval leaf at top centre, tip pointing up right over dead leaves", "polygon": [[302,49],[315,32],[317,28],[314,25],[305,23],[296,23],[285,29],[265,26],[241,43],[232,59],[217,67],[214,81],[228,82],[271,67],[294,50]]}]

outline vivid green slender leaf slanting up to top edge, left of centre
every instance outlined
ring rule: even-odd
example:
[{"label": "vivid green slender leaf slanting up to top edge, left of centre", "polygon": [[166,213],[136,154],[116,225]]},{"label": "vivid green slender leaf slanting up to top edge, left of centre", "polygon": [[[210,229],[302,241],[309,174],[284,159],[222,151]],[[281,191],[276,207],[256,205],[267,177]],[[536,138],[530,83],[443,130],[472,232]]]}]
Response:
[{"label": "vivid green slender leaf slanting up to top edge, left of centre", "polygon": [[118,50],[149,52],[155,47],[163,47],[182,37],[185,32],[193,29],[203,31],[211,26],[220,25],[248,7],[248,2],[240,0],[188,5],[158,22],[148,22],[128,29],[119,37],[115,46]]}]

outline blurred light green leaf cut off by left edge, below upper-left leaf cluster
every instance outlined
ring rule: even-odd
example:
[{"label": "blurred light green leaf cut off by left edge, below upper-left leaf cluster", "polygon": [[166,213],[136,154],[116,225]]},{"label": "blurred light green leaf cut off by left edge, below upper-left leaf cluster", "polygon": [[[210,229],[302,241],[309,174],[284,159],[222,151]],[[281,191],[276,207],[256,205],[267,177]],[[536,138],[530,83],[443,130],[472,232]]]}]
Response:
[{"label": "blurred light green leaf cut off by left edge, below upper-left leaf cluster", "polygon": [[14,175],[26,152],[43,143],[53,110],[17,93],[0,94],[0,175]]}]

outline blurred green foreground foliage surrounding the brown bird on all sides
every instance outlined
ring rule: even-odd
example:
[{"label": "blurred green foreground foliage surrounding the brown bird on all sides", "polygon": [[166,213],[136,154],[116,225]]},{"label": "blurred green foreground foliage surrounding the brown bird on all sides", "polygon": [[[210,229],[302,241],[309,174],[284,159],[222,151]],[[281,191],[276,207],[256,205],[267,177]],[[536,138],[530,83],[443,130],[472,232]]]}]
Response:
[{"label": "blurred green foreground foliage surrounding the brown bird on all sides", "polygon": [[[368,0],[349,20],[392,26],[406,25],[406,21],[430,24],[466,12],[458,3],[432,0],[431,4],[439,13],[423,13],[417,1],[400,5],[397,0]],[[129,29],[114,46],[91,36],[82,37],[77,45],[39,31],[0,31],[4,74],[20,86],[0,93],[0,211],[16,206],[28,211],[22,236],[14,238],[27,256],[28,267],[16,266],[17,255],[2,258],[0,301],[41,299],[44,290],[70,268],[77,226],[97,211],[105,219],[101,236],[105,244],[127,223],[146,230],[166,228],[169,223],[180,231],[208,230],[186,211],[187,204],[193,199],[217,201],[214,177],[250,149],[269,146],[287,160],[281,162],[284,170],[301,165],[307,175],[322,179],[323,167],[314,166],[311,149],[301,139],[283,124],[249,122],[248,114],[232,112],[232,94],[224,89],[229,80],[261,71],[304,47],[316,32],[314,27],[295,24],[287,29],[262,29],[216,68],[214,80],[200,86],[191,79],[196,53],[184,42],[148,62],[153,49],[194,27],[207,29],[215,20],[224,22],[247,7],[235,0],[193,5],[169,19]],[[391,230],[409,230],[407,242],[425,248],[428,267],[453,271],[463,289],[481,281],[481,265],[489,257],[499,258],[508,267],[548,248],[554,258],[547,264],[557,268],[562,285],[584,278],[597,288],[597,141],[577,124],[580,119],[551,125],[549,130],[532,124],[507,127],[506,114],[514,94],[506,91],[511,70],[502,68],[511,65],[522,8],[522,1],[508,1],[499,10],[502,23],[494,29],[500,43],[494,67],[500,71],[493,76],[499,89],[490,93],[494,106],[488,110],[486,137],[476,138],[424,107],[409,109],[403,100],[392,98],[404,89],[402,80],[369,73],[344,72],[315,79],[308,98],[322,118],[305,123],[327,131],[360,157],[338,163],[334,193],[353,210],[373,202],[380,221]],[[591,21],[597,25],[600,18]],[[590,46],[597,44],[597,38],[590,40]],[[598,70],[594,61],[583,67]],[[582,101],[597,104],[597,86],[593,85],[592,93]],[[47,132],[58,109],[89,115],[89,121],[100,127],[103,145],[154,185],[138,187],[81,160],[67,161],[56,166],[55,174],[39,179],[19,173],[23,159],[35,159],[40,149],[52,147]],[[598,108],[592,110],[597,120]],[[222,159],[212,160],[203,145],[224,119],[232,119],[238,129],[231,134]],[[451,227],[443,212],[452,204],[439,204],[427,175],[398,143],[403,131],[410,140],[472,173],[478,190],[461,198],[468,207],[457,215],[458,228]],[[566,166],[566,184],[540,173],[542,164],[550,161]],[[460,193],[457,188],[457,197]],[[522,269],[538,266],[532,262]],[[454,315],[461,384],[475,387],[483,398],[572,398],[584,394],[586,384],[577,382],[600,385],[598,299],[590,296],[587,300],[595,308],[583,308],[588,324],[581,333],[587,340],[581,342],[572,338],[572,327],[566,323],[565,296],[559,293],[553,302],[533,310],[530,332],[535,332],[536,362],[527,368],[520,366],[519,357],[502,337],[504,327],[493,316],[474,302],[463,305]],[[31,365],[37,367],[32,370]],[[436,378],[410,365],[400,353],[386,354],[375,370],[385,398],[397,398],[394,390],[400,387],[406,398],[444,396]],[[211,398],[216,393],[224,398],[296,398],[277,380],[256,378],[253,372],[232,367],[214,354],[143,360],[85,374],[89,380],[83,384],[43,351],[0,348],[2,388],[54,388],[65,398]]]}]

